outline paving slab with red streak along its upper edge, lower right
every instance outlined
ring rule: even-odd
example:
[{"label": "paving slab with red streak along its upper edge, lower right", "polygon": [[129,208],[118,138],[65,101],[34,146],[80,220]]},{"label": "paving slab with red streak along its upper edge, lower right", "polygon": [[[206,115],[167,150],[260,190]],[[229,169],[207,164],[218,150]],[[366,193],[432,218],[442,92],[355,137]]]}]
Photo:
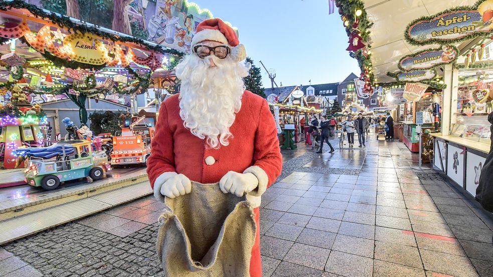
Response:
[{"label": "paving slab with red streak along its upper edge, lower right", "polygon": [[457,239],[447,236],[415,233],[416,242],[420,249],[465,256],[465,252]]}]

